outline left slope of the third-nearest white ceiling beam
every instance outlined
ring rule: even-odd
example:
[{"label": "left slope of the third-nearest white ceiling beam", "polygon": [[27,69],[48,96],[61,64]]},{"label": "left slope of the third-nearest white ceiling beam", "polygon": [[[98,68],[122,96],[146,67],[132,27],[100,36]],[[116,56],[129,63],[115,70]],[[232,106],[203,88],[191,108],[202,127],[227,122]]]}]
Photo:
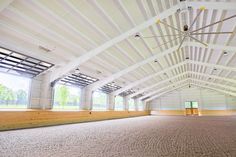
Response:
[{"label": "left slope of the third-nearest white ceiling beam", "polygon": [[122,93],[122,92],[124,92],[124,91],[126,91],[126,90],[128,90],[128,89],[130,89],[130,88],[133,88],[133,87],[135,87],[135,86],[137,86],[137,85],[139,85],[139,84],[141,84],[141,83],[143,83],[143,82],[145,82],[145,81],[151,79],[151,78],[154,78],[154,77],[156,77],[156,76],[158,76],[158,75],[161,75],[162,73],[165,73],[165,72],[167,72],[167,71],[170,71],[170,70],[173,70],[173,69],[178,68],[178,67],[180,67],[180,66],[183,66],[184,64],[186,64],[185,61],[184,61],[184,62],[180,62],[180,63],[178,63],[178,64],[175,64],[175,65],[173,65],[173,66],[171,66],[171,67],[165,68],[165,69],[163,69],[163,70],[161,70],[161,71],[159,71],[159,72],[157,72],[157,73],[154,73],[154,74],[152,74],[152,75],[148,75],[147,77],[144,77],[144,78],[142,78],[142,79],[140,79],[140,80],[137,80],[137,81],[135,81],[135,82],[132,82],[132,83],[128,84],[127,86],[125,86],[125,87],[123,87],[123,88],[120,88],[120,89],[114,91],[112,94],[113,94],[113,95],[118,95],[118,94],[120,94],[120,93]]}]

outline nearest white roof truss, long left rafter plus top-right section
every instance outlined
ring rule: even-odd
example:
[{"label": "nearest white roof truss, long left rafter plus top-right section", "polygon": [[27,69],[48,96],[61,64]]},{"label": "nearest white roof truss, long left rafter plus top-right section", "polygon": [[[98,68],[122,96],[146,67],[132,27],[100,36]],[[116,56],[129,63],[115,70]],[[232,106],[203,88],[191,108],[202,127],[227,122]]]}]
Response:
[{"label": "nearest white roof truss, long left rafter plus top-right section", "polygon": [[[236,10],[234,7],[236,3],[230,2],[230,3],[223,3],[223,2],[188,2],[188,5],[193,8],[201,8],[204,6],[206,9],[218,9],[218,10]],[[78,58],[75,58],[73,61],[71,61],[69,64],[55,70],[53,74],[51,75],[51,82],[54,80],[60,78],[62,75],[69,73],[72,69],[76,69],[79,65],[82,63],[88,61],[89,59],[95,57],[96,55],[102,53],[106,49],[114,46],[115,44],[121,42],[122,40],[128,38],[131,35],[134,35],[137,32],[140,32],[141,30],[144,30],[151,25],[155,24],[157,22],[157,19],[165,19],[169,17],[170,15],[173,15],[176,13],[176,10],[180,9],[180,6],[177,4],[175,6],[172,6],[171,8],[165,10],[164,12],[160,13],[158,16],[155,16],[145,22],[143,22],[140,25],[137,25],[130,29],[129,31],[120,34],[119,36],[107,41],[106,43],[102,44],[101,46],[85,53],[85,55],[82,55]]]}]

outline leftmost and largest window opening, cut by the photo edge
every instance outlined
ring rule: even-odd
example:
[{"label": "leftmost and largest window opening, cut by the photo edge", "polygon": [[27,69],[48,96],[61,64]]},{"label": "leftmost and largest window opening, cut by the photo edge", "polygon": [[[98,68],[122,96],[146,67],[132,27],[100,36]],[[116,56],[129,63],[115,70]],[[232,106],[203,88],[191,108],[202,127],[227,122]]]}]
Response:
[{"label": "leftmost and largest window opening, cut by the photo edge", "polygon": [[27,108],[29,78],[0,73],[0,108]]}]

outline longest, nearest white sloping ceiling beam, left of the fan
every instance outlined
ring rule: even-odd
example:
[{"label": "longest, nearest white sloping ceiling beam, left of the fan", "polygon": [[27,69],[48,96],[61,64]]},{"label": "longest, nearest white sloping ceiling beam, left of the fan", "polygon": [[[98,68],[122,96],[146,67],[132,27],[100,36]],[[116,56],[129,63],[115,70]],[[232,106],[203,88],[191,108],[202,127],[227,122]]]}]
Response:
[{"label": "longest, nearest white sloping ceiling beam, left of the fan", "polygon": [[164,12],[160,13],[158,16],[155,16],[155,17],[143,22],[142,24],[135,26],[134,28],[130,29],[129,31],[107,41],[106,43],[98,46],[95,49],[92,49],[91,51],[85,53],[84,55],[82,55],[78,58],[75,58],[74,60],[72,60],[71,62],[66,64],[65,66],[55,69],[51,75],[50,81],[53,82],[54,80],[62,77],[64,74],[69,73],[71,70],[76,69],[82,63],[88,61],[89,59],[93,58],[94,56],[96,56],[96,55],[102,53],[103,51],[105,51],[106,49],[112,47],[113,45],[121,42],[122,40],[128,38],[129,36],[139,32],[145,28],[148,28],[149,26],[156,23],[157,19],[167,18],[168,16],[174,14],[178,8],[179,8],[179,6],[175,5],[175,6],[171,7],[170,9],[167,9]]}]

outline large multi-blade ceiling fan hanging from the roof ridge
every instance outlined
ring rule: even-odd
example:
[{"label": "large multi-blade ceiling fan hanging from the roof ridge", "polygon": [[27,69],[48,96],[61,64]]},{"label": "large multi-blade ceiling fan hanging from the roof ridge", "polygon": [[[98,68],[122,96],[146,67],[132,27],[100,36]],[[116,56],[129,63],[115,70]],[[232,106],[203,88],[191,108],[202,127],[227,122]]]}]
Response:
[{"label": "large multi-blade ceiling fan hanging from the roof ridge", "polygon": [[135,37],[136,39],[139,39],[139,38],[157,38],[157,37],[167,37],[167,36],[174,36],[174,37],[175,37],[174,39],[172,39],[172,40],[170,40],[170,41],[167,41],[167,42],[164,42],[164,43],[160,44],[159,46],[157,46],[157,47],[155,47],[155,48],[158,48],[158,47],[160,47],[160,46],[166,45],[167,43],[170,43],[170,42],[172,42],[172,41],[175,41],[175,40],[181,38],[180,45],[179,45],[179,47],[178,47],[178,49],[177,49],[177,51],[179,51],[179,49],[180,49],[181,46],[183,45],[183,43],[184,43],[184,41],[185,41],[186,38],[191,38],[191,39],[195,40],[196,42],[199,42],[199,43],[201,43],[201,44],[203,44],[204,46],[207,47],[207,46],[208,46],[207,43],[204,43],[203,41],[197,39],[197,38],[194,37],[194,36],[196,36],[196,35],[207,35],[207,34],[232,34],[232,33],[233,33],[233,32],[206,32],[206,33],[199,33],[198,31],[199,31],[199,30],[203,30],[203,29],[205,29],[205,28],[207,28],[207,27],[211,27],[211,26],[216,25],[216,24],[218,24],[218,23],[222,23],[222,22],[224,22],[224,21],[226,21],[226,20],[235,18],[236,15],[227,17],[227,18],[222,19],[222,20],[219,20],[219,21],[217,21],[217,22],[211,23],[211,24],[206,25],[206,26],[204,26],[204,27],[201,27],[201,28],[192,30],[192,29],[193,29],[193,25],[195,24],[195,22],[197,21],[198,17],[201,15],[201,13],[202,13],[204,10],[205,10],[205,7],[201,7],[201,8],[199,9],[199,12],[197,13],[196,17],[194,18],[193,22],[190,24],[190,26],[188,26],[187,24],[185,24],[185,25],[183,26],[183,30],[181,30],[181,29],[179,29],[179,28],[176,28],[176,27],[173,27],[173,26],[171,26],[171,25],[165,23],[164,21],[157,20],[157,22],[156,22],[157,24],[163,24],[163,25],[165,25],[166,27],[169,27],[169,28],[171,28],[171,29],[173,29],[173,30],[175,30],[175,31],[178,31],[178,32],[179,32],[178,34],[160,35],[160,36],[141,36],[141,35],[139,35],[139,34],[135,34],[134,37]]}]

